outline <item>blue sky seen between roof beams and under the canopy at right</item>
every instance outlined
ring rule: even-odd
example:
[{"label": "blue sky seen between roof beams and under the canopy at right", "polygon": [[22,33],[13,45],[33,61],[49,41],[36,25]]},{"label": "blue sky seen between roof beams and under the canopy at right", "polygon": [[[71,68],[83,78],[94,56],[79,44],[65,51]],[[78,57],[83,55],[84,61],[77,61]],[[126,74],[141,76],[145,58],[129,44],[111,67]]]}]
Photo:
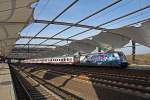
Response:
[{"label": "blue sky seen between roof beams and under the canopy at right", "polygon": [[[35,20],[53,20],[64,8],[66,8],[69,4],[71,4],[74,0],[40,0],[38,3],[32,5],[35,7],[33,17]],[[83,19],[84,17],[92,14],[93,12],[104,8],[105,6],[115,2],[116,0],[79,0],[74,6],[72,6],[69,10],[67,10],[63,15],[58,17],[56,21],[63,21],[63,22],[71,22],[76,23],[79,20]],[[102,23],[105,23],[109,20],[117,18],[119,16],[123,16],[127,13],[130,13],[134,10],[140,9],[150,5],[150,0],[122,0],[118,4],[114,5],[113,7],[81,22],[80,24],[85,25],[92,25],[97,26]],[[110,24],[103,25],[103,28],[106,29],[115,29],[119,27],[123,27],[125,25],[150,18],[150,8],[145,9],[139,13],[134,15],[122,18],[120,20],[114,21]],[[21,36],[34,36],[38,33],[46,24],[39,24],[39,23],[31,23],[28,25],[22,32]],[[54,34],[58,33],[59,31],[67,28],[68,26],[63,25],[49,25],[46,29],[44,29],[38,36],[40,37],[51,37]],[[67,31],[56,35],[55,37],[58,38],[67,38],[72,36],[76,33],[82,32],[87,30],[87,28],[79,28],[79,27],[72,27]],[[72,37],[72,39],[84,39],[89,36],[97,35],[101,32],[101,30],[91,30],[81,35]],[[39,44],[44,39],[33,39],[30,44]],[[54,44],[59,40],[48,40],[44,44]],[[20,39],[17,41],[17,44],[27,43],[28,39]],[[66,44],[66,41],[58,43],[58,45]],[[131,43],[127,44],[131,45]],[[131,54],[131,48],[122,48],[121,49],[125,54]],[[145,46],[138,46],[136,50],[137,54],[143,53],[150,53],[150,48]]]}]

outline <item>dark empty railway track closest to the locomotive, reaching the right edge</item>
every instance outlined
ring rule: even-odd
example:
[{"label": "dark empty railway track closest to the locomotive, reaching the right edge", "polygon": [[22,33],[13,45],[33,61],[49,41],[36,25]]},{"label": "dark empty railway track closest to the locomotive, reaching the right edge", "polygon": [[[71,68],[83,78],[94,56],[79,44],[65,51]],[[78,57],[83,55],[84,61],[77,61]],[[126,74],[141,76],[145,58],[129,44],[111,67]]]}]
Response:
[{"label": "dark empty railway track closest to the locomotive, reaching the right edge", "polygon": [[[57,72],[57,71],[56,71]],[[120,75],[120,74],[112,74],[112,73],[98,73],[98,72],[89,72],[89,71],[64,71],[62,74],[71,74],[71,75],[79,75],[84,74],[91,79],[108,79],[114,81],[122,81],[123,83],[130,83],[139,86],[150,86],[150,78],[149,77],[139,77],[139,76],[130,76],[130,75]]]}]

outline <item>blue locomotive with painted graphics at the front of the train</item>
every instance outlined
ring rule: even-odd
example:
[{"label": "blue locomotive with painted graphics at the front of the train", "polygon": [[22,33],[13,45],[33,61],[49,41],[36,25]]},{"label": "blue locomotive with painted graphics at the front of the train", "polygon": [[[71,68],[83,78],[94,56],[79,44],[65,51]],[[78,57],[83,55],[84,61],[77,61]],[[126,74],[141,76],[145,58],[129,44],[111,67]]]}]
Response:
[{"label": "blue locomotive with painted graphics at the front of the train", "polygon": [[128,62],[122,52],[107,52],[89,54],[85,57],[82,63],[103,65],[103,66],[127,66]]}]

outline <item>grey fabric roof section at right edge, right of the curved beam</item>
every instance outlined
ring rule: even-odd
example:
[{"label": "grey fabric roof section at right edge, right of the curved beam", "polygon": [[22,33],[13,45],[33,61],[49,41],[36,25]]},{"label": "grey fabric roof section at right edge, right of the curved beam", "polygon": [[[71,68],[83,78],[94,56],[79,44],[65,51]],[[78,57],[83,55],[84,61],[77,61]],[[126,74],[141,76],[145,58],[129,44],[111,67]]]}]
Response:
[{"label": "grey fabric roof section at right edge, right of the curved beam", "polygon": [[109,30],[110,32],[125,36],[137,43],[150,47],[150,20],[142,23],[140,27],[122,27]]}]

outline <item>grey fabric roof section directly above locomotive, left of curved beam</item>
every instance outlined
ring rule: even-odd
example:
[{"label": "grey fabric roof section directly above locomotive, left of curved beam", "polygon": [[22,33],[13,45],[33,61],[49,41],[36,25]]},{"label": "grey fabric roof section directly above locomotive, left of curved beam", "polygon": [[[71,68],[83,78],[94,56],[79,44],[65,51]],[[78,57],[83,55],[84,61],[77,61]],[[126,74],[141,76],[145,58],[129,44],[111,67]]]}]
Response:
[{"label": "grey fabric roof section directly above locomotive, left of curved beam", "polygon": [[92,40],[99,44],[109,45],[109,47],[112,48],[121,48],[125,44],[129,43],[130,39],[111,32],[101,32],[98,35],[93,36]]}]

